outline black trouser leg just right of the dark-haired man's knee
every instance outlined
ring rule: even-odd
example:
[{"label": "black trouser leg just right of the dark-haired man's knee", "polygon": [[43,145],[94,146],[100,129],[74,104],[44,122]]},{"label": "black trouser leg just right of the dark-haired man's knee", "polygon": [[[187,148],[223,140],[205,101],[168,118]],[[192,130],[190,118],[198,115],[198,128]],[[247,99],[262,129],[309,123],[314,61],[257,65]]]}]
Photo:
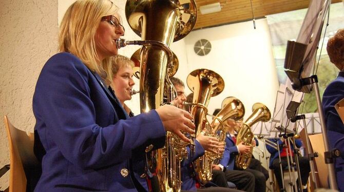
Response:
[{"label": "black trouser leg just right of the dark-haired man's knee", "polygon": [[251,172],[242,170],[226,170],[224,175],[227,181],[234,183],[239,190],[254,191],[255,176]]}]

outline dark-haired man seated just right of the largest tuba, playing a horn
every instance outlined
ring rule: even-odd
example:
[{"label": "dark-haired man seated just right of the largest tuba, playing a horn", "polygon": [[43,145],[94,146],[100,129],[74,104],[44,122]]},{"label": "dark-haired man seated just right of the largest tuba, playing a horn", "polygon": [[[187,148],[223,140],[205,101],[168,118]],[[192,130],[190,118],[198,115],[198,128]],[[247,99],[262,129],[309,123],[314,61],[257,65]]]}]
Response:
[{"label": "dark-haired man seated just right of the largest tuba, playing a horn", "polygon": [[[175,105],[178,105],[179,108],[183,108],[183,102],[186,101],[186,97],[184,94],[184,83],[175,77],[170,78],[172,84],[175,86],[177,90],[177,98],[172,102]],[[203,136],[200,134],[196,138],[195,148],[196,152],[194,156],[190,156],[190,148],[187,147],[188,150],[188,158],[181,163],[181,180],[182,180],[182,189],[183,190],[196,190],[197,191],[239,191],[235,189],[227,188],[227,181],[224,177],[222,171],[215,170],[212,172],[213,174],[213,181],[216,185],[221,187],[203,187],[200,188],[200,185],[196,182],[195,178],[195,171],[192,167],[192,162],[195,161],[197,158],[204,155],[204,150],[210,150],[209,142],[207,140],[215,139],[213,137]],[[213,141],[214,142],[214,141]],[[218,142],[217,142],[218,143]],[[206,185],[211,186],[211,185]]]}]

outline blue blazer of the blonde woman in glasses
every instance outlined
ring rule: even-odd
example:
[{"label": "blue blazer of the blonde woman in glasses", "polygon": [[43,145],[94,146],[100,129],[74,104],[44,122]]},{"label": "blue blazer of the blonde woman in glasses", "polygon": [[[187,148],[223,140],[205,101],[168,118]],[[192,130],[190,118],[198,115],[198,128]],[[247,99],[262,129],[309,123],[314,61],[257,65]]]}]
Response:
[{"label": "blue blazer of the blonde woman in glasses", "polygon": [[78,57],[58,53],[48,60],[36,84],[33,113],[45,151],[37,154],[43,172],[35,191],[137,191],[133,181],[147,189],[140,177],[144,150],[165,143],[158,113],[129,118]]}]

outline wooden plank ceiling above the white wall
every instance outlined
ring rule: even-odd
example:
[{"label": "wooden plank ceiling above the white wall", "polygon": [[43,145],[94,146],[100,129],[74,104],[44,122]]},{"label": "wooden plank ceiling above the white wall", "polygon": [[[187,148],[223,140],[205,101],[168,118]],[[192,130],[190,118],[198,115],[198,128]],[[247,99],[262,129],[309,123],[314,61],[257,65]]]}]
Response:
[{"label": "wooden plank ceiling above the white wall", "polygon": [[[251,0],[195,0],[198,7],[194,29],[252,20]],[[314,0],[318,1],[318,0]],[[202,15],[199,7],[219,2],[221,12]],[[342,0],[332,0],[332,3]],[[255,18],[265,15],[308,8],[310,0],[252,0]]]}]

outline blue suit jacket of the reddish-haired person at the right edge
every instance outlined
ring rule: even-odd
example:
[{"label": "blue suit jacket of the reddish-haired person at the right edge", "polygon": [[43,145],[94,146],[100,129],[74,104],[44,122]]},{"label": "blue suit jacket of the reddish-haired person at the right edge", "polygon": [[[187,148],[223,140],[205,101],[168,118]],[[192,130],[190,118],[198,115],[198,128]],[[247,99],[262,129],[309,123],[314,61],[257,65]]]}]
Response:
[{"label": "blue suit jacket of the reddish-haired person at the right edge", "polygon": [[[338,148],[344,152],[344,124],[334,105],[344,98],[344,71],[340,71],[337,79],[331,82],[322,95],[322,107],[328,130],[328,138],[331,149]],[[344,159],[335,160],[337,184],[340,190],[344,190]]]}]

